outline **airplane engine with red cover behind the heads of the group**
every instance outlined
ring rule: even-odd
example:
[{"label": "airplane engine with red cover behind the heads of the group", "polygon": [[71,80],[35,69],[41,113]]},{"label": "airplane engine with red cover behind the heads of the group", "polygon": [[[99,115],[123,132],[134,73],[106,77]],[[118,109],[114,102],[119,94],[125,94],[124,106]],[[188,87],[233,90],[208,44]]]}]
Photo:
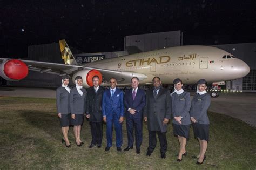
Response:
[{"label": "airplane engine with red cover behind the heads of the group", "polygon": [[83,77],[83,87],[92,87],[93,82],[92,82],[92,77],[93,76],[98,76],[99,77],[99,84],[102,83],[102,73],[100,73],[98,70],[81,70],[75,73],[72,77],[73,82],[75,83],[75,78],[77,76]]}]

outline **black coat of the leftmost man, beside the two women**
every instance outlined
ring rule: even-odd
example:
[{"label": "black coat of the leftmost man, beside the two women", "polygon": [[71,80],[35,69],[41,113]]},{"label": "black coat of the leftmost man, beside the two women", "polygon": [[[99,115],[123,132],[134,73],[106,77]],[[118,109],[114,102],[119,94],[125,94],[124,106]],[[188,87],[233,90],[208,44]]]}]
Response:
[{"label": "black coat of the leftmost man, beside the two women", "polygon": [[87,89],[86,97],[86,115],[90,114],[90,121],[100,122],[102,119],[102,98],[104,93],[104,88],[99,86],[97,93],[95,93],[94,87]]}]

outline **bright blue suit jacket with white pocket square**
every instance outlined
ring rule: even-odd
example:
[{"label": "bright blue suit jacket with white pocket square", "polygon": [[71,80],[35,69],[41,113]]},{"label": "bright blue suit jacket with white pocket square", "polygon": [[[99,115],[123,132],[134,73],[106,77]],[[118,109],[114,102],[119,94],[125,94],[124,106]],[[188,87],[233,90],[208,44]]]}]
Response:
[{"label": "bright blue suit jacket with white pocket square", "polygon": [[107,119],[112,120],[113,115],[116,114],[118,118],[124,117],[124,92],[116,88],[116,91],[111,97],[110,89],[103,93],[102,100],[102,114]]}]

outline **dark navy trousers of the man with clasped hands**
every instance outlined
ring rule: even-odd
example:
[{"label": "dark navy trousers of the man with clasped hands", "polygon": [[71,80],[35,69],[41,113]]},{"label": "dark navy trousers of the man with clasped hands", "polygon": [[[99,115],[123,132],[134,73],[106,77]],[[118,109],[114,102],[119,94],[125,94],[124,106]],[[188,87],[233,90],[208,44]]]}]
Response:
[{"label": "dark navy trousers of the man with clasped hands", "polygon": [[133,131],[135,129],[135,139],[136,147],[140,148],[142,145],[142,118],[134,118],[133,116],[126,117],[126,130],[128,137],[128,146],[133,146],[134,135]]}]

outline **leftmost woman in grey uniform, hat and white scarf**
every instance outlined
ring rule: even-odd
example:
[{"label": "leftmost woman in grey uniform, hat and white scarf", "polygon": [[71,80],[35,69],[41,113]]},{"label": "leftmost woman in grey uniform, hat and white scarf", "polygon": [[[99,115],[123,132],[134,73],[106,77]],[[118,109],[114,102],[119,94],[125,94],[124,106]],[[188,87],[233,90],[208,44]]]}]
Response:
[{"label": "leftmost woman in grey uniform, hat and white scarf", "polygon": [[62,77],[62,86],[56,90],[56,105],[57,105],[57,114],[60,120],[60,125],[62,126],[62,143],[65,142],[66,147],[71,147],[68,139],[68,132],[70,126],[70,88],[69,85],[69,77]]}]

